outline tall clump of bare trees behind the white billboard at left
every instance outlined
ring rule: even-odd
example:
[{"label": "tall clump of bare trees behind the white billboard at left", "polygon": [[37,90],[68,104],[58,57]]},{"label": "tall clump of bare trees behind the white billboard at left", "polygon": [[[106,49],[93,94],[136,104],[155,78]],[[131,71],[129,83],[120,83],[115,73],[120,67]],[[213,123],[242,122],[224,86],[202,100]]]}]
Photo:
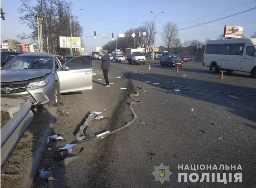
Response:
[{"label": "tall clump of bare trees behind the white billboard at left", "polygon": [[[59,36],[70,36],[70,18],[72,22],[72,33],[74,33],[74,22],[76,22],[76,37],[82,37],[83,28],[72,15],[73,4],[65,0],[36,0],[35,5],[31,5],[31,0],[21,0],[18,9],[22,16],[20,21],[32,29],[32,33],[26,35],[19,34],[21,40],[31,38],[32,42],[37,43],[37,21],[36,17],[43,18],[43,43],[46,51],[46,41],[48,37],[50,53],[60,53]],[[68,53],[69,49],[61,49]]]}]

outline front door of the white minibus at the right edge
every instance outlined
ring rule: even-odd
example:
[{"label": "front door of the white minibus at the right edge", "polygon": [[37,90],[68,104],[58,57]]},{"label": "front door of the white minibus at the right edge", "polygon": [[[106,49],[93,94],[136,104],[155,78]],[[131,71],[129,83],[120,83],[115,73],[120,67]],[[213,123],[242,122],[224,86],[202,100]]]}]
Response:
[{"label": "front door of the white minibus at the right edge", "polygon": [[242,71],[251,72],[256,66],[256,48],[253,44],[246,44],[242,59]]}]

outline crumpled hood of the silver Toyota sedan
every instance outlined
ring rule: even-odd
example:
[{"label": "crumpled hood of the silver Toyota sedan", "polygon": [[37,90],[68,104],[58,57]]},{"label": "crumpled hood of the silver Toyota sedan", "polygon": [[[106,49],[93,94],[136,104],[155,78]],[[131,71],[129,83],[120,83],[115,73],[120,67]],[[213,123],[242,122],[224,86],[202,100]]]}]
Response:
[{"label": "crumpled hood of the silver Toyota sedan", "polygon": [[23,69],[23,70],[1,70],[1,82],[18,82],[33,78],[44,77],[51,73],[52,69]]}]

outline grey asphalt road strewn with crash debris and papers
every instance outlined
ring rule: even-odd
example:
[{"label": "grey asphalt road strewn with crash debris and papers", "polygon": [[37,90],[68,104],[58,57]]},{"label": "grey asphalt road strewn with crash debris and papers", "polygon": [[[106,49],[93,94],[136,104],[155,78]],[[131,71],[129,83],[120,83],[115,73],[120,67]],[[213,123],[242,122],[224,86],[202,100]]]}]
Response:
[{"label": "grey asphalt road strewn with crash debris and papers", "polygon": [[[93,91],[61,95],[63,106],[58,111],[68,116],[57,113],[54,131],[63,135],[66,142],[51,142],[47,147],[52,150],[46,147],[39,166],[52,167],[57,180],[51,181],[49,187],[256,187],[256,79],[249,73],[224,73],[224,80],[220,80],[220,74],[210,73],[201,62],[186,62],[178,73],[176,68],[161,67],[159,61],[150,63],[151,70],[148,63],[111,62],[109,79],[113,84],[104,88],[100,63],[93,60],[93,72],[97,74],[93,76]],[[89,111],[102,111],[104,116],[90,127],[89,133],[114,130],[130,121],[128,104],[133,100],[128,95],[140,91],[137,86],[147,92],[137,97],[142,104],[134,106],[138,117],[134,124],[85,144],[86,151],[80,159],[65,167],[52,162],[58,146],[75,140],[72,133]],[[151,174],[161,162],[173,173],[170,181],[163,184],[154,181]],[[178,169],[178,165],[186,164],[216,164],[218,170]],[[239,164],[242,170],[219,170],[220,165]],[[232,173],[232,183],[216,183],[216,177],[215,183],[206,179],[178,182],[178,173],[193,172],[199,177],[202,173]],[[243,181],[234,183],[234,173],[243,173]],[[42,185],[37,175],[32,187]]]}]

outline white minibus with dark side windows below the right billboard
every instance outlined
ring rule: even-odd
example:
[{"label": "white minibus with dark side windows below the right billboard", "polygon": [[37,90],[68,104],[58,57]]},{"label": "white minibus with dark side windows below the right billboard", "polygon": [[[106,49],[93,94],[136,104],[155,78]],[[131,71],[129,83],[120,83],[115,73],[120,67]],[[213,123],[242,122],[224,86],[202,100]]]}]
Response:
[{"label": "white minibus with dark side windows below the right billboard", "polygon": [[212,73],[243,71],[256,77],[256,38],[208,40],[203,65]]}]

